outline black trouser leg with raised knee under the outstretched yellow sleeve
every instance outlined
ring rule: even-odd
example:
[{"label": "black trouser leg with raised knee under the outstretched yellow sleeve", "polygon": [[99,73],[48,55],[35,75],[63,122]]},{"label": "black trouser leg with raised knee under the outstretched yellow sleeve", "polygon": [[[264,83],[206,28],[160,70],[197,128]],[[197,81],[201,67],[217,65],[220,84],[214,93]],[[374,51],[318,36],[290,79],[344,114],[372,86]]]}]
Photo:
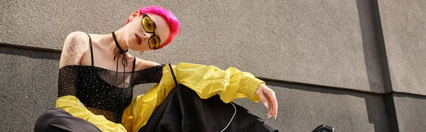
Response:
[{"label": "black trouser leg with raised knee under the outstretched yellow sleeve", "polygon": [[222,130],[278,131],[258,116],[250,114],[244,107],[225,104],[219,95],[200,99],[190,88],[178,84],[139,132]]}]

